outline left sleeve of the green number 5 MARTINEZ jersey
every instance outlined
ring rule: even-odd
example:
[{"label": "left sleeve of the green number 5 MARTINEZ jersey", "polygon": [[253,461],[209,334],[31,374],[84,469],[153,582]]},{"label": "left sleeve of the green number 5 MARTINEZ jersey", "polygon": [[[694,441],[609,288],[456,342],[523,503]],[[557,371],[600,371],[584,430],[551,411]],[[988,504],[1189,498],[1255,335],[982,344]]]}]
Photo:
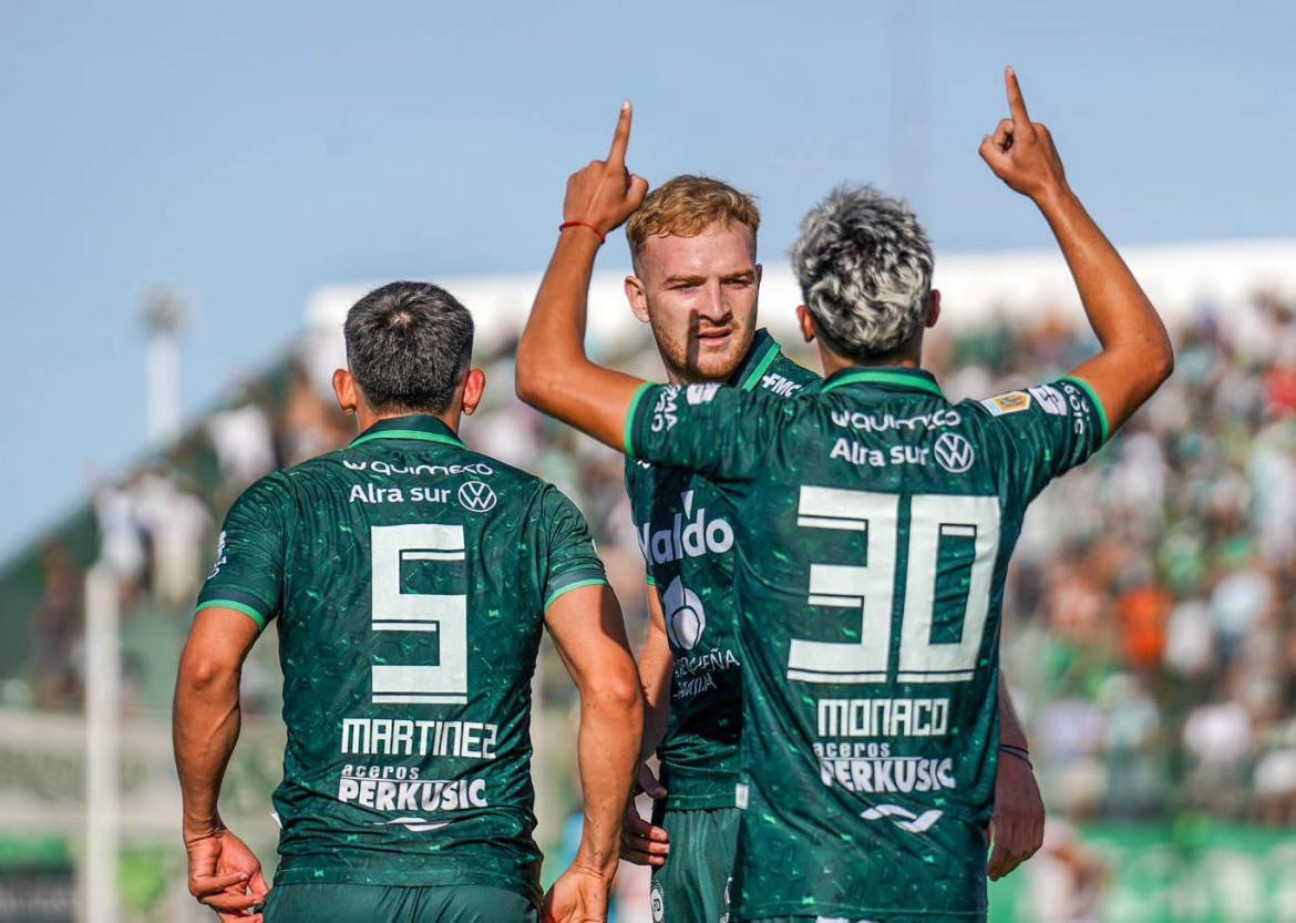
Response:
[{"label": "left sleeve of the green number 5 MARTINEZ jersey", "polygon": [[216,542],[216,563],[194,612],[226,608],[266,627],[279,614],[284,587],[288,487],[271,474],[235,500]]}]

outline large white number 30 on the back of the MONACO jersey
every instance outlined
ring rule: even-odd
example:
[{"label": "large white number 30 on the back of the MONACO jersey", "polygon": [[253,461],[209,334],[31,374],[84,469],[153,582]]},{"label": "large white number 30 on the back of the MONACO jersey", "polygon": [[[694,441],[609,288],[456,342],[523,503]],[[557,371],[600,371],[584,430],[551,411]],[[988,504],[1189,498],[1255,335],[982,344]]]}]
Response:
[{"label": "large white number 30 on the back of the MONACO jersey", "polygon": [[[866,564],[811,564],[811,605],[853,609],[854,643],[793,639],[788,679],[807,683],[886,682],[899,543],[899,495],[801,487],[797,525],[862,532]],[[898,682],[972,679],[999,554],[995,497],[920,494],[910,499],[908,564],[903,574]],[[945,567],[942,567],[942,563]],[[962,603],[960,618],[937,620]],[[955,630],[951,630],[955,629]]]}]

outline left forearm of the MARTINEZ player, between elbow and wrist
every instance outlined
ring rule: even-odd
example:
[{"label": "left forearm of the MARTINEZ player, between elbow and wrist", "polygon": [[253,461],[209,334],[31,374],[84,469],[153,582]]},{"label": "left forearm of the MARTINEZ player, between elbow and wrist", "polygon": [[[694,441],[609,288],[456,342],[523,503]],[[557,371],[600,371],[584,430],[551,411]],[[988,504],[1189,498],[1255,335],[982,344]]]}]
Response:
[{"label": "left forearm of the MARTINEZ player, between elbow and wrist", "polygon": [[172,740],[185,840],[220,827],[216,801],[238,740],[240,722],[237,672],[193,677],[181,668],[175,691]]}]

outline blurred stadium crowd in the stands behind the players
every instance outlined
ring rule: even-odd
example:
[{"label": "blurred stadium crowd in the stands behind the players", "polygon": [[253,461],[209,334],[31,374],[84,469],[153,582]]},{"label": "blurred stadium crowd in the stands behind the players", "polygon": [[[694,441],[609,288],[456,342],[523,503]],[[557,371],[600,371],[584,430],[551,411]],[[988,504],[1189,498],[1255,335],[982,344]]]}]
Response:
[{"label": "blurred stadium crowd in the stands behind the players", "polygon": [[[1048,380],[1089,350],[1078,311],[1041,306],[1029,318],[936,337],[932,371],[951,399]],[[1170,381],[1032,508],[1008,585],[1007,674],[1051,810],[1077,821],[1192,810],[1296,823],[1296,305],[1269,293],[1203,305],[1175,342]],[[658,368],[647,337],[619,360],[649,376]],[[492,388],[467,441],[584,509],[642,634],[643,559],[621,458],[515,401],[509,347],[478,362]],[[133,710],[167,707],[224,509],[262,474],[351,438],[311,367],[312,356],[286,359],[165,456],[95,491],[98,556],[121,586]],[[40,560],[17,697],[78,708],[79,573],[58,539]],[[277,710],[272,648],[259,646],[249,666],[245,708]],[[10,681],[9,700],[13,690]],[[556,657],[542,661],[540,690],[550,708],[572,699]]]}]

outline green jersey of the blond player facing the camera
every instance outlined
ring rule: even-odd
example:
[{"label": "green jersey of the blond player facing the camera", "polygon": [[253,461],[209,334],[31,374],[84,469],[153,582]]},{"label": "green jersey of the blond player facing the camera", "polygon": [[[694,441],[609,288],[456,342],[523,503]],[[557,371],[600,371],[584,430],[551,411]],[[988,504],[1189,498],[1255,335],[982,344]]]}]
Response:
[{"label": "green jersey of the blond player facing the camera", "polygon": [[[791,398],[819,376],[758,331],[730,384]],[[715,385],[693,385],[706,390]],[[626,493],[674,655],[670,722],[657,748],[673,809],[732,808],[743,730],[734,596],[734,509],[705,477],[626,459]]]}]

